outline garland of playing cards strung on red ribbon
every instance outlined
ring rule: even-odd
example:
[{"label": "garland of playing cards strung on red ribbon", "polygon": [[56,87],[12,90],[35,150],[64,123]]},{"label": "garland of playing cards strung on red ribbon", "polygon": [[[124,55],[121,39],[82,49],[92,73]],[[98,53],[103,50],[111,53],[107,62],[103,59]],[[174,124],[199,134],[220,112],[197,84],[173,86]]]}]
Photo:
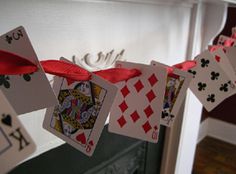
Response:
[{"label": "garland of playing cards strung on red ribbon", "polygon": [[[236,93],[236,29],[232,31],[193,61],[171,67],[118,61],[116,68],[95,72],[66,60],[39,62],[23,27],[2,35],[0,172],[35,149],[16,113],[50,107],[43,127],[91,156],[109,112],[110,132],[156,143],[160,124],[173,124],[188,86],[208,111],[214,109]],[[55,75],[54,91],[45,72]],[[12,159],[12,154],[19,157]],[[4,159],[11,161],[2,163]]]}]

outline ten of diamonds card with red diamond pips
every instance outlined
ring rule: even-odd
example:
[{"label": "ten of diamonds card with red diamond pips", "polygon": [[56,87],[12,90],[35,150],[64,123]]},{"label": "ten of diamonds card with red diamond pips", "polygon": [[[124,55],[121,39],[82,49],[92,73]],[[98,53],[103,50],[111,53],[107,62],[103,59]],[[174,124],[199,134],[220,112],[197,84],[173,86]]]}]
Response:
[{"label": "ten of diamonds card with red diamond pips", "polygon": [[116,67],[137,68],[141,75],[116,83],[109,131],[149,142],[158,141],[167,71],[163,67],[116,62]]}]

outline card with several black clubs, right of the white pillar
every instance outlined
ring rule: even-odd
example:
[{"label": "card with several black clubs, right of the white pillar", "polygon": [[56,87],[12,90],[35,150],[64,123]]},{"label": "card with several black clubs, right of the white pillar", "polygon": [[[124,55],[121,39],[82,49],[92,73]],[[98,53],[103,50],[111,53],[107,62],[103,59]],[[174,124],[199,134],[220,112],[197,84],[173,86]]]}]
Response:
[{"label": "card with several black clubs, right of the white pillar", "polygon": [[189,70],[194,75],[189,87],[204,107],[211,111],[235,94],[235,85],[209,51],[198,55],[195,61],[197,65]]}]

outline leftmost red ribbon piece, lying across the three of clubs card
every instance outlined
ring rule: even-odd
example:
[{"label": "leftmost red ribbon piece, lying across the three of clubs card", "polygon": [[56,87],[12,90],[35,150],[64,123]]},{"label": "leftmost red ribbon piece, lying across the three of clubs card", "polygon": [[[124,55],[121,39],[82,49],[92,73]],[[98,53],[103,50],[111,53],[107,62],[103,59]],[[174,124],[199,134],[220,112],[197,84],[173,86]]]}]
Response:
[{"label": "leftmost red ribbon piece, lying across the three of clubs card", "polygon": [[0,50],[0,74],[30,74],[37,71],[38,67],[31,61],[13,53]]}]

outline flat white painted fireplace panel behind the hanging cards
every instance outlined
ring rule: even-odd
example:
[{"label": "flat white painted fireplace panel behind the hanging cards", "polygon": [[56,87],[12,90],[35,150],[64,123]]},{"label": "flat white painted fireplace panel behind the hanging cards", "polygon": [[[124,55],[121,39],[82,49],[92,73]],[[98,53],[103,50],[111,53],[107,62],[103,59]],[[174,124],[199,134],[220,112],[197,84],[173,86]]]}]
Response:
[{"label": "flat white painted fireplace panel behind the hanging cards", "polygon": [[[0,33],[23,25],[40,60],[124,48],[128,61],[172,65],[186,58],[190,15],[182,3],[1,0]],[[20,116],[38,152],[60,142],[41,128],[44,113]]]}]

